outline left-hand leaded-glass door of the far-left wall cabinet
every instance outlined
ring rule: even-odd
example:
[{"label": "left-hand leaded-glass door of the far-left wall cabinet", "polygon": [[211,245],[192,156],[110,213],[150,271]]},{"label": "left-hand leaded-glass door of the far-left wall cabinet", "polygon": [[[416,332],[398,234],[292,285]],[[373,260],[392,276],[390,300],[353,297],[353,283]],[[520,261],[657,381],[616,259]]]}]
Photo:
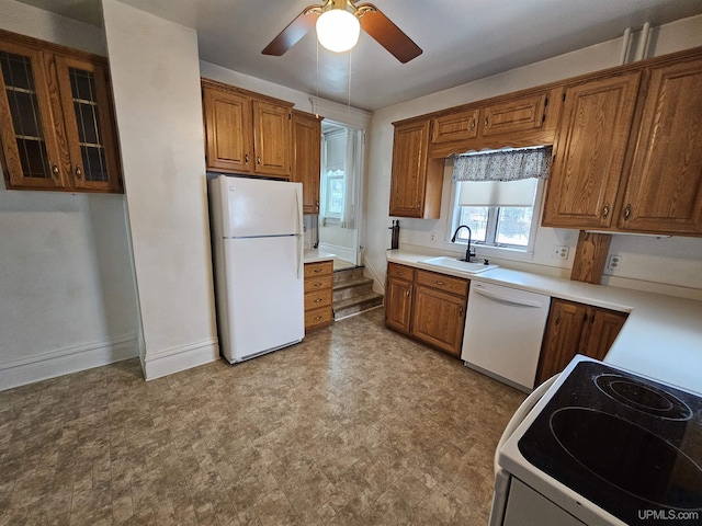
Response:
[{"label": "left-hand leaded-glass door of the far-left wall cabinet", "polygon": [[[58,87],[44,67],[44,54],[0,42],[0,140],[9,188],[65,188],[66,133],[52,112],[49,92]],[[60,148],[60,147],[64,148]]]}]

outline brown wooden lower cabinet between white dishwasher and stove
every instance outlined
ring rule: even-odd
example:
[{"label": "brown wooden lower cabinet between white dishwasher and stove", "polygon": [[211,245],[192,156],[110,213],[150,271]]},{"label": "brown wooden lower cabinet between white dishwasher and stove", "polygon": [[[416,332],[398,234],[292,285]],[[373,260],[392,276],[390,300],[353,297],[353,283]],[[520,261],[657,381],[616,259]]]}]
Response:
[{"label": "brown wooden lower cabinet between white dishwasher and stove", "polygon": [[629,315],[565,299],[551,299],[536,386],[561,373],[576,354],[603,359]]}]

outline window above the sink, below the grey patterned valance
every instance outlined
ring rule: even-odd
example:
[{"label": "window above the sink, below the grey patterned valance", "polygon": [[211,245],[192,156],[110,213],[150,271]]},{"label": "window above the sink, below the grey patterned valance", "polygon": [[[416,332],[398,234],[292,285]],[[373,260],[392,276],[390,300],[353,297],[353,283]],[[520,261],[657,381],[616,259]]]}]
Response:
[{"label": "window above the sink, below the grey patterned valance", "polygon": [[[452,231],[471,228],[471,242],[521,251],[533,249],[543,182],[536,179],[510,182],[457,182]],[[456,241],[468,241],[461,229]]]}]

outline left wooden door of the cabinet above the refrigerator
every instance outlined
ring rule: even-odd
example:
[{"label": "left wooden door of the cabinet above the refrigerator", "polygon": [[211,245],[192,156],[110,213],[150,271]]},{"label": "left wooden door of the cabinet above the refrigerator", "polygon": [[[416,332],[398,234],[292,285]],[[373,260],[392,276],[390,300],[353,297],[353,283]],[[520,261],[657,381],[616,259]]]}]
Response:
[{"label": "left wooden door of the cabinet above the refrigerator", "polygon": [[252,171],[251,100],[237,93],[203,88],[207,168]]}]

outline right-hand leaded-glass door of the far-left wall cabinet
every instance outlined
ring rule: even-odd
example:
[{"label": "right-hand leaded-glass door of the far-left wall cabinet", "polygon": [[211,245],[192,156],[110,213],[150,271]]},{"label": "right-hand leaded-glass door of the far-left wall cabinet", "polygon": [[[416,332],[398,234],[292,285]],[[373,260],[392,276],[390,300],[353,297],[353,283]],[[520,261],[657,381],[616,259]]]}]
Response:
[{"label": "right-hand leaded-glass door of the far-left wall cabinet", "polygon": [[73,57],[56,56],[55,61],[70,151],[65,170],[77,190],[118,192],[121,178],[105,70]]}]

